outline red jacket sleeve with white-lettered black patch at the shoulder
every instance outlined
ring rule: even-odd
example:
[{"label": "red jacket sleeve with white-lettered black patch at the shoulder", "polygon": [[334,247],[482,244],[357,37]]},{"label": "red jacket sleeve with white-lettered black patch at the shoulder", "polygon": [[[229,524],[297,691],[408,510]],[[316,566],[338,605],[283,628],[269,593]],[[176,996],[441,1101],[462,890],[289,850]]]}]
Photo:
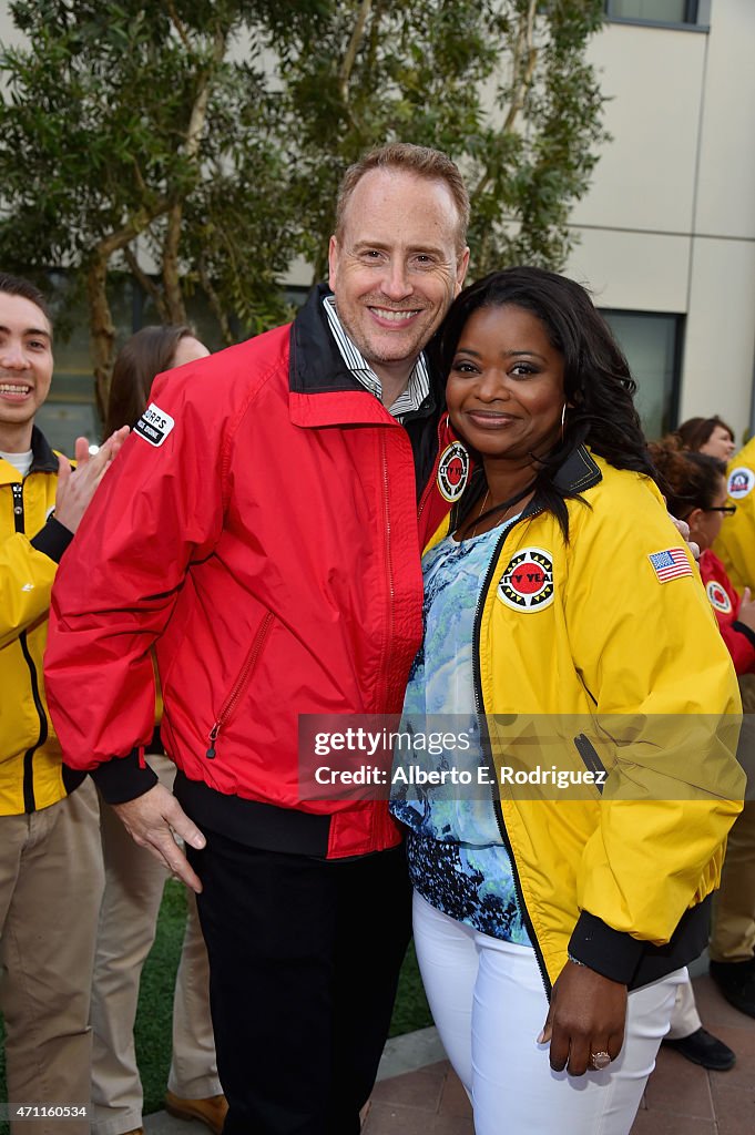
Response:
[{"label": "red jacket sleeve with white-lettered black patch at the shoulder", "polygon": [[219,358],[156,380],[149,428],[127,439],[58,571],[45,688],[74,767],[94,768],[152,735],[150,647],[187,565],[210,554],[221,529],[227,431],[223,384],[207,367]]}]

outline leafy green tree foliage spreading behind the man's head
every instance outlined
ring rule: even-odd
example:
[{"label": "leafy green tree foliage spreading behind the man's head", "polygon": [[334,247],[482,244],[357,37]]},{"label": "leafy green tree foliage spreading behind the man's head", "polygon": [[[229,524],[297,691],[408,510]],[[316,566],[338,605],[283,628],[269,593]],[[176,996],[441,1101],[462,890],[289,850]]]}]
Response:
[{"label": "leafy green tree foliage spreading behind the man's head", "polygon": [[585,61],[602,0],[10,7],[28,47],[0,57],[0,258],[85,285],[101,406],[114,268],[162,319],[201,288],[227,342],[232,317],[270,326],[293,257],[324,272],[342,174],[392,138],[461,166],[477,275],[565,258],[605,137]]}]

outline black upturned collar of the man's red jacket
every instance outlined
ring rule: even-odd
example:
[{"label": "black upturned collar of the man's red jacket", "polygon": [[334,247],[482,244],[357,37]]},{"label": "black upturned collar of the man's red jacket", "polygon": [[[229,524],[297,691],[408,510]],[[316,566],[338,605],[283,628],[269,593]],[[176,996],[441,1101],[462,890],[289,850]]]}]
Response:
[{"label": "black upturned collar of the man's red jacket", "polygon": [[[330,295],[318,284],[291,327],[288,407],[295,426],[397,426],[379,398],[349,370],[322,310]],[[414,456],[418,499],[435,463],[437,423],[444,406],[443,382],[428,363],[430,390],[422,405],[404,415]]]}]

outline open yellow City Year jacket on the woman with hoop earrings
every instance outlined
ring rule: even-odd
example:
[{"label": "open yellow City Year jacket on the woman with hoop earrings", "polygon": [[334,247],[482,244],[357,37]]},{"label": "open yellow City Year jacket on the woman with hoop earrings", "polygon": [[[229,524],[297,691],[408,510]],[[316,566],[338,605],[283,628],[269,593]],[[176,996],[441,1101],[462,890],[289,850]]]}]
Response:
[{"label": "open yellow City Year jacket on the woman with hoop earrings", "polygon": [[[477,708],[546,987],[568,950],[631,987],[705,945],[699,903],[718,885],[744,793],[739,695],[653,482],[584,448],[559,479],[585,502],[567,502],[569,541],[536,497],[497,545],[476,616]],[[678,578],[663,582],[668,557],[658,574],[649,556],[672,548],[683,549]],[[536,766],[604,767],[603,794],[501,787],[504,770]]]}]

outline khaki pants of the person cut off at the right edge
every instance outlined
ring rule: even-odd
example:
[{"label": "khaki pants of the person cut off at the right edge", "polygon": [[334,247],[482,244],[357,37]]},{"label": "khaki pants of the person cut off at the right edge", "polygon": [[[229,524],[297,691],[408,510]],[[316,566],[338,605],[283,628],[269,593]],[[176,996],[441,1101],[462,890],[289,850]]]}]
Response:
[{"label": "khaki pants of the person cut off at the right edge", "polygon": [[[743,708],[755,714],[755,674],[739,679]],[[752,788],[750,788],[752,792]],[[755,956],[755,800],[746,800],[729,832],[721,888],[713,896],[712,961]]]}]

